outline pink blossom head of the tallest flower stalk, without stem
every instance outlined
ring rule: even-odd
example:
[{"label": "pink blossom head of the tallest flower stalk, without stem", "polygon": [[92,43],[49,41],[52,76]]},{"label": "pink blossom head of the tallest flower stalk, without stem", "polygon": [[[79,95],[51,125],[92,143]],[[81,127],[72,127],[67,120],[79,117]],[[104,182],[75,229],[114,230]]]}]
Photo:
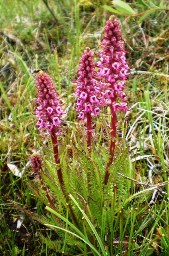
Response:
[{"label": "pink blossom head of the tallest flower stalk, without stem", "polygon": [[[106,21],[104,28],[104,36],[101,42],[101,52],[98,54],[98,75],[104,84],[104,93],[102,94],[103,105],[109,105],[121,100],[126,102],[127,96],[122,91],[125,89],[125,80],[128,79],[129,70],[128,62],[126,62],[126,51],[123,49],[124,40],[121,35],[121,25],[115,16],[112,15],[109,21]],[[111,91],[111,93],[110,93]],[[109,99],[109,100],[108,100]],[[126,110],[118,108],[119,111]],[[113,107],[114,109],[114,107]],[[114,111],[117,109],[115,108]]]}]

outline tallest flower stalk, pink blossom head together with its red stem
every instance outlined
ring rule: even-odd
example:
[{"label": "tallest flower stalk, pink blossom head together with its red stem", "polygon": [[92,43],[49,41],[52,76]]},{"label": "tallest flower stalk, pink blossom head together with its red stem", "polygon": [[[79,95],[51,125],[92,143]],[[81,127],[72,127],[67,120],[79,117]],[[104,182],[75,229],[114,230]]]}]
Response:
[{"label": "tallest flower stalk, pink blossom head together with its red stem", "polygon": [[[126,62],[126,51],[123,48],[124,40],[121,35],[121,25],[119,21],[112,15],[109,21],[106,21],[104,28],[104,36],[102,39],[102,50],[98,54],[100,60],[98,62],[98,76],[102,79],[102,101],[104,105],[108,105],[111,110],[111,142],[110,142],[110,159],[107,164],[104,184],[107,185],[109,178],[109,167],[113,162],[116,131],[117,131],[117,111],[123,112],[128,110],[127,95],[125,89],[125,80],[128,79],[126,70],[129,70]],[[120,102],[119,102],[120,100]]]}]

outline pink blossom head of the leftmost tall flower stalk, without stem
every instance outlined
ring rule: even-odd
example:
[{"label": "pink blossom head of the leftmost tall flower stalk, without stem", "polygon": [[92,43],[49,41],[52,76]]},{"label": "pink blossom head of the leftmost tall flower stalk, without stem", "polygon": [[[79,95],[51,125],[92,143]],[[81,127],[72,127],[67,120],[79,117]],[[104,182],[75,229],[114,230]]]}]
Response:
[{"label": "pink blossom head of the leftmost tall flower stalk, without stem", "polygon": [[63,114],[57,92],[50,76],[43,71],[36,77],[37,101],[38,107],[35,114],[39,117],[37,128],[49,132],[58,131],[61,124],[60,116]]}]

